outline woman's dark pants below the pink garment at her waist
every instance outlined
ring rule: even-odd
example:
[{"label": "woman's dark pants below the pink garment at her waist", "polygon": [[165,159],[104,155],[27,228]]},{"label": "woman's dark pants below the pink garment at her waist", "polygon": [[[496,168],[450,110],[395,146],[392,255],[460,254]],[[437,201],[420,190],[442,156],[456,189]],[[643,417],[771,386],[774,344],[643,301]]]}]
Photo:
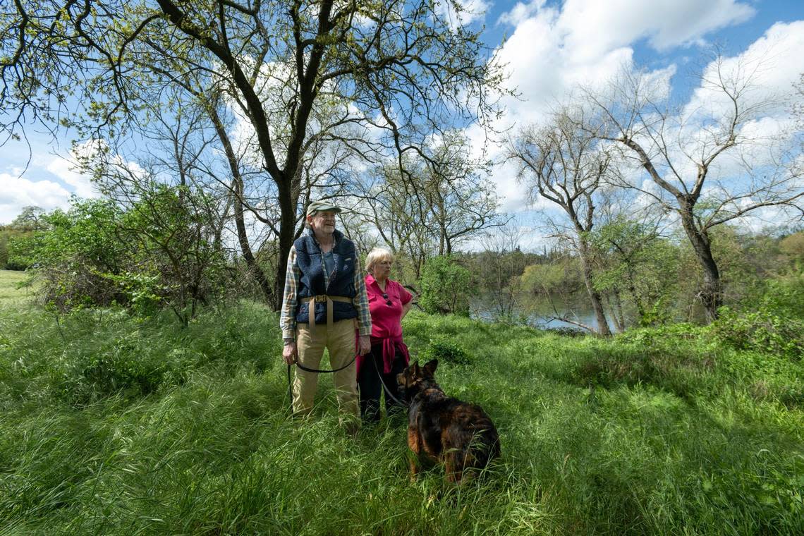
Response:
[{"label": "woman's dark pants below the pink garment at her waist", "polygon": [[[405,368],[404,358],[397,351],[391,363],[391,372],[383,374],[383,346],[371,346],[371,354],[367,354],[360,365],[360,375],[357,384],[360,391],[360,416],[364,421],[379,420],[379,394],[383,391],[383,386],[379,383],[377,371],[382,376],[385,387],[391,391],[391,395],[396,399],[401,399],[399,387],[396,385],[396,374],[400,374]],[[404,413],[405,407],[394,402],[391,397],[385,395],[385,412],[387,415],[394,413]]]}]

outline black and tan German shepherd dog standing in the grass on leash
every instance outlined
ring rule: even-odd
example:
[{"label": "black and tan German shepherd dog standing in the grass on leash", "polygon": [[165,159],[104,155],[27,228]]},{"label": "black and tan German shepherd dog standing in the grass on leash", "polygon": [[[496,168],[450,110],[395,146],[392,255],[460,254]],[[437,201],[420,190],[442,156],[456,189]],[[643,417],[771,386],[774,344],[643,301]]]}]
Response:
[{"label": "black and tan German shepherd dog standing in the grass on leash", "polygon": [[420,466],[441,462],[446,479],[460,484],[466,471],[486,467],[500,455],[497,428],[476,404],[461,402],[441,391],[435,380],[438,360],[413,362],[396,376],[408,407],[408,447],[411,478]]}]

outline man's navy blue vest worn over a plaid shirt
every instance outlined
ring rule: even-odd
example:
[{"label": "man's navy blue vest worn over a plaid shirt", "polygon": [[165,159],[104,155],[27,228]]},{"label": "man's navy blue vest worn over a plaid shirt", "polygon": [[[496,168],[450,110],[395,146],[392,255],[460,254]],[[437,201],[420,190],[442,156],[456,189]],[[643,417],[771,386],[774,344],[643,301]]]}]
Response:
[{"label": "man's navy blue vest worn over a plaid shirt", "polygon": [[[296,263],[301,270],[299,287],[297,288],[298,305],[296,306],[296,321],[300,324],[308,322],[308,306],[301,300],[318,294],[329,296],[355,297],[355,260],[357,252],[355,244],[343,236],[341,231],[335,231],[335,247],[332,250],[334,270],[330,273],[330,286],[324,280],[324,260],[321,248],[313,239],[313,231],[300,236],[293,245],[296,247]],[[314,302],[312,302],[314,303]],[[332,304],[333,320],[346,320],[357,317],[357,309],[351,303],[335,301]],[[315,323],[326,324],[326,303],[315,304]]]}]

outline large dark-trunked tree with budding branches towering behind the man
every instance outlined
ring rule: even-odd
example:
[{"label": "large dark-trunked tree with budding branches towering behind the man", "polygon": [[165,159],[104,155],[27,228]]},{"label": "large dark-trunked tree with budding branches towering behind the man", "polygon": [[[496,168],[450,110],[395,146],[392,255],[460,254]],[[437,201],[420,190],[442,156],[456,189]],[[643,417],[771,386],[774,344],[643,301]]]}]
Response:
[{"label": "large dark-trunked tree with budding branches towering behind the man", "polygon": [[18,136],[23,118],[61,119],[113,139],[149,121],[148,102],[180,117],[160,88],[207,106],[204,96],[225,96],[252,154],[238,201],[259,195],[275,222],[278,306],[306,203],[332,194],[310,192],[306,170],[330,167],[338,147],[371,163],[396,155],[401,169],[433,133],[494,115],[486,89],[500,88],[502,69],[445,5],[464,10],[457,0],[14,2],[0,27],[0,128]]}]

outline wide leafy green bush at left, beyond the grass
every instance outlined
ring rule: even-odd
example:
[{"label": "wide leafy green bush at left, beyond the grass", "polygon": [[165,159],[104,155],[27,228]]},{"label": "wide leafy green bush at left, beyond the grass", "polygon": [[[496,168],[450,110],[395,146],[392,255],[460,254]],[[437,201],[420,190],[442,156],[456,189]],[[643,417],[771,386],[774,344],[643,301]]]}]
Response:
[{"label": "wide leafy green bush at left, beyond the grass", "polygon": [[127,210],[73,199],[68,212],[43,216],[47,230],[14,242],[13,258],[35,267],[43,301],[57,311],[118,303],[149,315],[170,307],[187,325],[227,276],[204,203],[204,194],[161,184]]}]

